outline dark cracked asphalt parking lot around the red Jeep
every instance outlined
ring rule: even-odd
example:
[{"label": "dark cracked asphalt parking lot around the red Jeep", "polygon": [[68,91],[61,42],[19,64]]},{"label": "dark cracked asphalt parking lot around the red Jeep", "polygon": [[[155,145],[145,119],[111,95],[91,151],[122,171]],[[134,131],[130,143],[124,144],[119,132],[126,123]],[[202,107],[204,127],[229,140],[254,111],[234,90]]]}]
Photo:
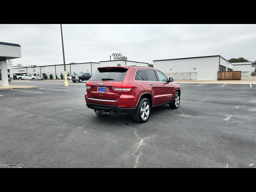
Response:
[{"label": "dark cracked asphalt parking lot around the red Jeep", "polygon": [[[85,82],[0,90],[0,168],[255,168],[256,85],[180,84],[178,109],[96,116]],[[224,86],[223,86],[224,85]]]}]

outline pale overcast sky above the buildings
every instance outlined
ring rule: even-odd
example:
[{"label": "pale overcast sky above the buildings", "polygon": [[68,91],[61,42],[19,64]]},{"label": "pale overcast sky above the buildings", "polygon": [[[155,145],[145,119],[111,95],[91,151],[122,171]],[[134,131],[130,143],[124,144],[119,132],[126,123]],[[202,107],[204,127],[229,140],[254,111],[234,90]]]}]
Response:
[{"label": "pale overcast sky above the buildings", "polygon": [[[256,24],[63,24],[66,64],[221,55],[256,60]],[[63,64],[60,24],[0,24],[0,41],[20,44],[14,66]]]}]

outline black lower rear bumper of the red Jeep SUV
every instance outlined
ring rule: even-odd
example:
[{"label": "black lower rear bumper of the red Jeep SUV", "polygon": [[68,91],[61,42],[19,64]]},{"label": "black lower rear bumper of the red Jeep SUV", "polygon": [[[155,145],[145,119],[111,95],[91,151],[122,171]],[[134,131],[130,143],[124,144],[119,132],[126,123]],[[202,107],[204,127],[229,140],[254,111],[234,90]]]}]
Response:
[{"label": "black lower rear bumper of the red Jeep SUV", "polygon": [[114,112],[116,114],[133,114],[135,110],[135,108],[120,108],[118,106],[102,105],[89,102],[86,103],[86,106],[97,111]]}]

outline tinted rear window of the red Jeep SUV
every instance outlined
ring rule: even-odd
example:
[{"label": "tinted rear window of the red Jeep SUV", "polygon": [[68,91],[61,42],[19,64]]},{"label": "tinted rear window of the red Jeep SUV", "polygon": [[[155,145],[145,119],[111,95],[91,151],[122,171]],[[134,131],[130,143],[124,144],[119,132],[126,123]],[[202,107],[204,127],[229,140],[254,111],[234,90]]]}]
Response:
[{"label": "tinted rear window of the red Jeep SUV", "polygon": [[99,69],[90,81],[123,81],[128,69],[126,68],[103,68]]}]

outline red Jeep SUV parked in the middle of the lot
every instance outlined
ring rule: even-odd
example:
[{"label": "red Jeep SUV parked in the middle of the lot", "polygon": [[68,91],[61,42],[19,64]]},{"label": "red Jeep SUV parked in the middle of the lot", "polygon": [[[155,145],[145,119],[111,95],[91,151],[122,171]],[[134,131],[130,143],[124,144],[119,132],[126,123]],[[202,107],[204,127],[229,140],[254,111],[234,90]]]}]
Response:
[{"label": "red Jeep SUV parked in the middle of the lot", "polygon": [[179,107],[180,86],[151,67],[107,66],[88,80],[84,97],[97,115],[132,114],[134,121],[144,123],[156,106]]}]

